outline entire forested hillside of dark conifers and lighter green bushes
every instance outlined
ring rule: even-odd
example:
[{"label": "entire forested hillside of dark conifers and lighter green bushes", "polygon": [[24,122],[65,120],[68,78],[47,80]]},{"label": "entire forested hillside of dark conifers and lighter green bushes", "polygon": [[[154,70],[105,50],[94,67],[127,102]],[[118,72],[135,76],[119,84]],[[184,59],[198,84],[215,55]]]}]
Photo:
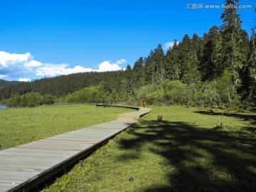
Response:
[{"label": "entire forested hillside of dark conifers and lighter green bushes", "polygon": [[[226,4],[238,4],[227,0]],[[28,92],[65,102],[131,102],[250,109],[256,103],[256,35],[242,29],[237,9],[225,9],[221,26],[202,37],[185,35],[164,53],[159,45],[133,68],[107,73],[78,73],[45,78],[1,90],[7,105],[28,104]],[[12,96],[11,96],[12,95]],[[22,95],[22,96],[21,96]],[[39,97],[39,96],[38,96]],[[23,100],[23,102],[21,102]],[[14,102],[15,101],[15,102]]]}]

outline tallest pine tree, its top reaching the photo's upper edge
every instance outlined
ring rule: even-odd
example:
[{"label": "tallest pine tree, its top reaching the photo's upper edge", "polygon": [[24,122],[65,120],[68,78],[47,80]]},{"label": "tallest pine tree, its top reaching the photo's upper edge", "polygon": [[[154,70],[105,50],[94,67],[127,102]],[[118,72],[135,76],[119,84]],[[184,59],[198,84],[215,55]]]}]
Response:
[{"label": "tallest pine tree, its top reaching the photo's upper edge", "polygon": [[244,45],[245,31],[241,28],[242,21],[237,12],[236,3],[239,0],[226,0],[225,11],[220,18],[223,19],[223,25],[220,26],[221,33],[221,60],[218,68],[222,73],[228,69],[233,85],[239,82],[239,70],[242,69],[247,55],[245,54]]}]

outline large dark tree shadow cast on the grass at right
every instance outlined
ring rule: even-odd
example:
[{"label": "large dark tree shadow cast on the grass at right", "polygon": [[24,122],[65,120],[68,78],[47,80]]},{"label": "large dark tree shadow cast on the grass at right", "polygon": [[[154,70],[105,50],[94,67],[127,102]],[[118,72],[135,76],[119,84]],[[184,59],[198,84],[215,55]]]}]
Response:
[{"label": "large dark tree shadow cast on the grass at right", "polygon": [[119,160],[139,159],[147,142],[147,150],[165,159],[159,164],[168,170],[169,181],[166,186],[152,183],[143,191],[256,191],[256,139],[185,122],[141,124],[145,127],[128,129],[133,139],[119,140],[122,149],[135,149],[137,154]]}]

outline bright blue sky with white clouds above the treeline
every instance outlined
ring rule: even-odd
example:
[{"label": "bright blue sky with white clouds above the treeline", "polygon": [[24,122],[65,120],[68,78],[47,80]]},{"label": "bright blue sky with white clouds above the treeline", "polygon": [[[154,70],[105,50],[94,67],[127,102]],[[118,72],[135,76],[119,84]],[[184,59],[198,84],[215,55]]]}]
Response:
[{"label": "bright blue sky with white clouds above the treeline", "polygon": [[[33,80],[84,71],[119,70],[185,34],[220,26],[220,0],[1,0],[0,79]],[[191,9],[203,4],[203,9]],[[239,9],[250,33],[252,5]],[[189,9],[187,9],[189,8]]]}]

